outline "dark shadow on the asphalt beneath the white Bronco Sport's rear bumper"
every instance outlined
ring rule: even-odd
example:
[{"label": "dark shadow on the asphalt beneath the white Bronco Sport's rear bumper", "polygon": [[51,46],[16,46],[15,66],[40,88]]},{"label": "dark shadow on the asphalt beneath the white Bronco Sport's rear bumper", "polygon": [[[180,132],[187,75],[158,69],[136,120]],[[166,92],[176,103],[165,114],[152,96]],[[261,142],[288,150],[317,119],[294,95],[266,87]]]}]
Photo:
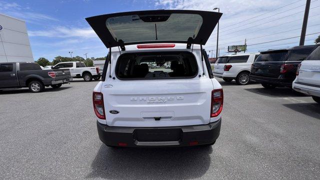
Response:
[{"label": "dark shadow on the asphalt beneath the white Bronco Sport's rear bumper", "polygon": [[191,179],[210,166],[212,147],[117,148],[102,144],[87,178]]}]

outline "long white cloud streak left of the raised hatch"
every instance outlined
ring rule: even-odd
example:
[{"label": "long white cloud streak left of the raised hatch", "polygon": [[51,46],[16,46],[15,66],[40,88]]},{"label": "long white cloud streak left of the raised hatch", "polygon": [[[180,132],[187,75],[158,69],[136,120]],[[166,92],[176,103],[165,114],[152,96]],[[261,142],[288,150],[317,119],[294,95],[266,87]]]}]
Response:
[{"label": "long white cloud streak left of the raised hatch", "polygon": [[42,37],[79,37],[91,38],[97,37],[95,32],[90,27],[65,27],[54,26],[47,30],[29,30],[29,36],[42,36]]}]

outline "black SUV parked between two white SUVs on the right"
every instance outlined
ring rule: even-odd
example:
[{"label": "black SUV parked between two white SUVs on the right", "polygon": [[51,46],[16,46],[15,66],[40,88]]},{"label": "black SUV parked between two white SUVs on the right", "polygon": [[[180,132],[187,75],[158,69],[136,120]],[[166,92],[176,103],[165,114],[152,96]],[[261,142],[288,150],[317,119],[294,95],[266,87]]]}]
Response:
[{"label": "black SUV parked between two white SUVs on the right", "polygon": [[304,45],[263,51],[252,63],[250,78],[265,88],[277,86],[291,88],[298,64],[317,46]]}]

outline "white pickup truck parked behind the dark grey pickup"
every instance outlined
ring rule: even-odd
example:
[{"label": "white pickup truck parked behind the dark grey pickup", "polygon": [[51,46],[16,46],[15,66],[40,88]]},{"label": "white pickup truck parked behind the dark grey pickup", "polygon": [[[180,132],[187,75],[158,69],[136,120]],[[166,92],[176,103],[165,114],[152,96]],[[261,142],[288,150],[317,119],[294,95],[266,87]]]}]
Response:
[{"label": "white pickup truck parked behind the dark grey pickup", "polygon": [[86,67],[84,62],[60,62],[51,67],[52,69],[69,69],[71,77],[83,78],[84,81],[99,80],[101,74],[99,67]]}]

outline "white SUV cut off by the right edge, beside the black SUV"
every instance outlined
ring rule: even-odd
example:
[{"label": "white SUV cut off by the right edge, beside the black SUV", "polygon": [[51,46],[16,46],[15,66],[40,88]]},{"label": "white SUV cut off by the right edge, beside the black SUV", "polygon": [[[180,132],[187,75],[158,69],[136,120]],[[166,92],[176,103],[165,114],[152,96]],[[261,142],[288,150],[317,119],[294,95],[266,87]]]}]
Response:
[{"label": "white SUV cut off by the right edge, beside the black SUV", "polygon": [[298,65],[292,88],[320,103],[320,46]]}]

